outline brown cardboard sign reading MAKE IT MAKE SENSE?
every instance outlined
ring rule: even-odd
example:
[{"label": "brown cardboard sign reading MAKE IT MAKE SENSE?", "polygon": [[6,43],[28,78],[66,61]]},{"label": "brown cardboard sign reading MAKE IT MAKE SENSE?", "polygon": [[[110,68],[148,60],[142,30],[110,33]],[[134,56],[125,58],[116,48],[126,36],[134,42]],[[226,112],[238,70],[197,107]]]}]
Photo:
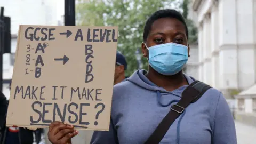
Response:
[{"label": "brown cardboard sign reading MAKE IT MAKE SENSE?", "polygon": [[6,126],[108,131],[117,27],[20,26]]}]

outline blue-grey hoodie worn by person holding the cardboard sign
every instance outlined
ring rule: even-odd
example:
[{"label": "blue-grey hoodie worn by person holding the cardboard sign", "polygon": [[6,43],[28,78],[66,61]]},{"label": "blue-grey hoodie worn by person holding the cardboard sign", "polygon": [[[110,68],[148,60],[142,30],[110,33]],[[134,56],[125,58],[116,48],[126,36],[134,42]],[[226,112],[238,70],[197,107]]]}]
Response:
[{"label": "blue-grey hoodie worn by person holding the cardboard sign", "polygon": [[[109,131],[95,131],[91,143],[144,143],[188,85],[172,92],[150,82],[145,70],[114,86]],[[194,78],[188,77],[188,83]],[[236,144],[233,116],[222,93],[207,90],[191,103],[161,143]]]}]

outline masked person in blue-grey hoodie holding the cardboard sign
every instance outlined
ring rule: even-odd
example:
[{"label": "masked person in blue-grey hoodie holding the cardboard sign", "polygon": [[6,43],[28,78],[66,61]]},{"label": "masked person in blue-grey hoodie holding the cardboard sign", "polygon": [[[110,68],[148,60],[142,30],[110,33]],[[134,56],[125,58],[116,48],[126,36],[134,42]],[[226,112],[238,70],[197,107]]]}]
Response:
[{"label": "masked person in blue-grey hoodie holding the cardboard sign", "polygon": [[[143,41],[148,71],[135,71],[127,81],[114,86],[110,130],[95,131],[91,143],[144,143],[170,111],[170,101],[179,100],[194,82],[182,73],[189,45],[188,29],[179,12],[167,9],[151,15]],[[72,126],[53,122],[49,139],[70,142],[77,133]],[[161,143],[236,144],[234,120],[222,93],[211,88],[191,103]]]}]

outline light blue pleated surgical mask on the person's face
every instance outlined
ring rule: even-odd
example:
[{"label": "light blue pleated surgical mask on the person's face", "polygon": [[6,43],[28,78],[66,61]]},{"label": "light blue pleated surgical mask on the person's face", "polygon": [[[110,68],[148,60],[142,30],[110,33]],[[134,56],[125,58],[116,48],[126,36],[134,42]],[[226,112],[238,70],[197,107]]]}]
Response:
[{"label": "light blue pleated surgical mask on the person's face", "polygon": [[162,75],[179,73],[188,61],[188,46],[182,44],[166,43],[147,49],[149,65]]}]

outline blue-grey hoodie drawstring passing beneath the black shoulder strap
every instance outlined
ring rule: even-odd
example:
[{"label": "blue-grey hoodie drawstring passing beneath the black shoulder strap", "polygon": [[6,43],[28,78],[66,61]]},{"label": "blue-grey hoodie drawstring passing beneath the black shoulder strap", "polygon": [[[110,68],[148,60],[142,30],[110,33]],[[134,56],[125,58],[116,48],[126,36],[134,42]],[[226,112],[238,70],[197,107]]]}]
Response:
[{"label": "blue-grey hoodie drawstring passing beneath the black shoulder strap", "polygon": [[[163,103],[161,103],[161,93],[160,93],[160,91],[157,90],[156,93],[157,93],[157,102],[158,102],[158,104],[159,104],[160,106],[162,106],[162,107],[168,107],[168,106],[170,106],[171,103],[173,103],[173,102],[179,102],[179,100],[172,100],[172,101],[170,101],[169,103],[167,103],[166,105],[164,105]],[[186,109],[185,109],[185,110],[183,111],[183,113],[181,114],[181,116],[180,116],[180,118],[179,118],[179,121],[178,121],[178,124],[177,124],[177,139],[176,139],[176,143],[177,143],[177,144],[180,143],[180,122],[181,122],[183,116],[185,115],[185,113],[186,113]]]}]

